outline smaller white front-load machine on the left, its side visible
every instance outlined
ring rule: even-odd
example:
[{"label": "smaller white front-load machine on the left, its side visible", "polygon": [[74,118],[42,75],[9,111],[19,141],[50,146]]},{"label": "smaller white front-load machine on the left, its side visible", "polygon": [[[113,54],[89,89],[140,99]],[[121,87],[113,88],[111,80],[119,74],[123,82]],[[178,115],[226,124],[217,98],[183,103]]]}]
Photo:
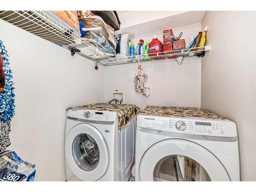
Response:
[{"label": "smaller white front-load machine on the left, its side visible", "polygon": [[136,118],[118,132],[116,112],[69,109],[67,181],[127,181],[135,155]]}]

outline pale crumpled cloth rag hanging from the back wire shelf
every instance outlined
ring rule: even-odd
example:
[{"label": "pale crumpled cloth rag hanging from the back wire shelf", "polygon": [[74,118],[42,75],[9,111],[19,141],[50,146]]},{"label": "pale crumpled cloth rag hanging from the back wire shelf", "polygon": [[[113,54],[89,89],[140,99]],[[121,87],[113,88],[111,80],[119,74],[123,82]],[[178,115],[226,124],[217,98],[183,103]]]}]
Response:
[{"label": "pale crumpled cloth rag hanging from the back wire shelf", "polygon": [[[139,59],[138,59],[139,63]],[[150,95],[150,87],[147,83],[147,75],[144,73],[142,66],[139,64],[136,76],[134,78],[135,91],[142,93],[144,96],[148,97]]]}]

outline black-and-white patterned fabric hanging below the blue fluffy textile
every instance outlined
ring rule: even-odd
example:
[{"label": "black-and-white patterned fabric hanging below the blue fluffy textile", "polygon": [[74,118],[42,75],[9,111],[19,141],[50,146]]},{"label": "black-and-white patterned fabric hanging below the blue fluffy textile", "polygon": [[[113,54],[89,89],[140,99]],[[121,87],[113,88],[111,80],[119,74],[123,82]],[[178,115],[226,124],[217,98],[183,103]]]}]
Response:
[{"label": "black-and-white patterned fabric hanging below the blue fluffy textile", "polygon": [[11,142],[9,138],[9,132],[11,131],[10,122],[0,121],[0,154],[5,152],[6,147],[8,147]]}]

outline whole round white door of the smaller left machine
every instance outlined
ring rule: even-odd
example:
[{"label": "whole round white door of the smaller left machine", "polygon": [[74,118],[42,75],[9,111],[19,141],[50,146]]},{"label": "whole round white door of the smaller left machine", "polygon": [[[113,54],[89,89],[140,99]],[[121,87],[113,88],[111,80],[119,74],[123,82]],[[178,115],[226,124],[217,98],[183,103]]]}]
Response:
[{"label": "whole round white door of the smaller left machine", "polygon": [[74,126],[68,133],[65,155],[73,174],[82,181],[97,181],[109,166],[109,149],[104,137],[87,123]]}]

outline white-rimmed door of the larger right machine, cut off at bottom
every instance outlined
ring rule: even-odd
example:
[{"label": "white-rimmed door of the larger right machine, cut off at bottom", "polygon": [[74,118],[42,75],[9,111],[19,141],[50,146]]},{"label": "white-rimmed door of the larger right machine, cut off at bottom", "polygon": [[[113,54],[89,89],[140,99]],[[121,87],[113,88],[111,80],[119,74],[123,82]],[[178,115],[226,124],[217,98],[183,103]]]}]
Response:
[{"label": "white-rimmed door of the larger right machine, cut off at bottom", "polygon": [[230,181],[216,156],[203,146],[183,139],[152,145],[139,165],[140,181]]}]

